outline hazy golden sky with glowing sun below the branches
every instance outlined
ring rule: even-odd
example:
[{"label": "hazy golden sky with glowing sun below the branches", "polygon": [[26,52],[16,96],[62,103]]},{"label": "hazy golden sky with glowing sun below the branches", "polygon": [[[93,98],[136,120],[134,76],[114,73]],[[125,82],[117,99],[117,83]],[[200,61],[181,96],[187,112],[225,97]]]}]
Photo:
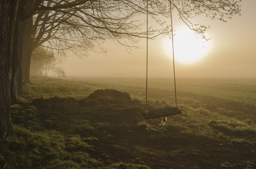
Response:
[{"label": "hazy golden sky with glowing sun below the branches", "polygon": [[[234,16],[227,22],[209,18],[200,20],[205,26],[211,26],[206,34],[211,40],[206,43],[198,43],[193,31],[189,33],[179,21],[174,20],[177,78],[256,78],[256,0],[243,0],[241,5],[241,16]],[[185,40],[182,35],[186,35]],[[144,48],[128,54],[125,47],[109,42],[105,44],[111,50],[107,54],[91,52],[85,59],[70,56],[62,65],[68,76],[145,77],[146,40],[142,39],[140,45]],[[173,76],[169,48],[170,42],[162,36],[149,41],[149,76]],[[191,58],[199,55],[202,58],[185,63],[179,61],[181,55]]]}]

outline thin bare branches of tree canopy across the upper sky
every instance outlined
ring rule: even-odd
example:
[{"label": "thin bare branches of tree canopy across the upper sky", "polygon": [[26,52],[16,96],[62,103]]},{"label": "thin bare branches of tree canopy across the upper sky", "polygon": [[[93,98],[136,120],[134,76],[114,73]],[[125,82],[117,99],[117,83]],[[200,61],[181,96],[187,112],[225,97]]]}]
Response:
[{"label": "thin bare branches of tree canopy across the upper sky", "polygon": [[[238,1],[233,0],[39,0],[34,2],[34,24],[32,36],[33,50],[42,45],[52,50],[71,50],[76,54],[83,51],[105,51],[101,44],[106,39],[125,45],[137,47],[139,38],[145,37],[142,29],[145,20],[138,16],[146,14],[160,28],[150,27],[150,37],[170,33],[171,25],[161,21],[169,17],[170,3],[179,19],[202,35],[209,28],[200,23],[193,23],[192,18],[205,15],[210,19],[226,21],[235,14],[240,14]],[[36,6],[37,5],[37,6]],[[148,7],[148,8],[147,8]]]}]

